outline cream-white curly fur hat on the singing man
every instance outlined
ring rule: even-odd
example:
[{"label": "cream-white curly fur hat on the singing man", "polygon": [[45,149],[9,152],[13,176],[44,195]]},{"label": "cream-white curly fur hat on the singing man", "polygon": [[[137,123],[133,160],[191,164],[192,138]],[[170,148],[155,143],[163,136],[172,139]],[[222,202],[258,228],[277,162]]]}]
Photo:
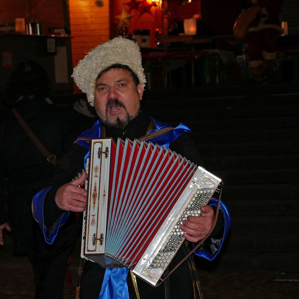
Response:
[{"label": "cream-white curly fur hat on the singing man", "polygon": [[115,63],[127,65],[138,77],[143,88],[146,80],[138,45],[122,37],[115,37],[92,49],[74,68],[72,77],[94,106],[94,88],[98,74]]}]

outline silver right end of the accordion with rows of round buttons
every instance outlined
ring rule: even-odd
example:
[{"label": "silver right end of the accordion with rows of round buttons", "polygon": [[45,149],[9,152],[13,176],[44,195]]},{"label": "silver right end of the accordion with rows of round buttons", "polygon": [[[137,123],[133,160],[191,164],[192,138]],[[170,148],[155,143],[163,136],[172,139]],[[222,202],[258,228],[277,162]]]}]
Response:
[{"label": "silver right end of the accordion with rows of round buttons", "polygon": [[[158,238],[153,239],[152,243],[156,244],[153,244],[153,247],[148,246],[145,251],[148,256],[147,262],[144,262],[143,265],[138,263],[133,270],[136,275],[154,286],[185,240],[179,225],[188,215],[199,216],[201,214],[200,208],[208,204],[221,182],[220,179],[202,169],[196,174],[198,174],[194,175],[196,179],[191,180],[190,189],[190,185],[188,185],[179,199],[181,203],[178,204],[179,208],[175,212],[177,214],[173,217],[171,227],[157,233],[157,235],[161,234],[159,237],[163,241],[159,242]],[[173,210],[170,211],[171,213]]]}]

